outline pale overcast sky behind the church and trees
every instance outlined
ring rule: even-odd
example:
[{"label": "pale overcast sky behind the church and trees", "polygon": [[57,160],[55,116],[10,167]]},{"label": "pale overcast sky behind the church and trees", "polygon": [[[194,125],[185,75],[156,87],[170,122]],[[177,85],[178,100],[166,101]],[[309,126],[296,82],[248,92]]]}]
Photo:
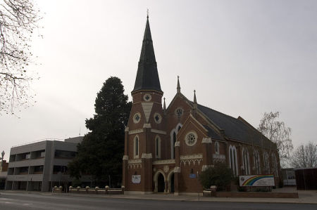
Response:
[{"label": "pale overcast sky behind the church and trees", "polygon": [[161,88],[254,127],[280,111],[294,146],[317,143],[317,1],[38,1],[34,106],[0,115],[0,150],[87,133],[103,82],[131,99],[147,8]]}]

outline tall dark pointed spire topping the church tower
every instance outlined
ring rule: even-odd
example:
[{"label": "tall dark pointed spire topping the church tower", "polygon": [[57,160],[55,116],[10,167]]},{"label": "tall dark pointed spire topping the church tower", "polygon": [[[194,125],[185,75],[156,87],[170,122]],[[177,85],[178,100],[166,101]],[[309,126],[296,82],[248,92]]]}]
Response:
[{"label": "tall dark pointed spire topping the church tower", "polygon": [[137,67],[135,88],[133,88],[132,93],[140,90],[163,92],[161,90],[151,37],[151,29],[149,27],[149,14],[147,15],[147,25],[145,27],[141,55],[139,56],[139,66]]}]

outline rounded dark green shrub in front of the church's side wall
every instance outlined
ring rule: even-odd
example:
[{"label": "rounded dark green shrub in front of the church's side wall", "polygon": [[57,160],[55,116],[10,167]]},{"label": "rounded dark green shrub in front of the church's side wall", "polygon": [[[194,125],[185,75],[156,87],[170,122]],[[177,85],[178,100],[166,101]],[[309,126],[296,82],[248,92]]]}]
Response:
[{"label": "rounded dark green shrub in front of the church's side wall", "polygon": [[217,162],[213,167],[209,167],[201,173],[199,181],[204,188],[216,185],[217,190],[222,190],[230,184],[232,178],[232,170],[226,164]]}]

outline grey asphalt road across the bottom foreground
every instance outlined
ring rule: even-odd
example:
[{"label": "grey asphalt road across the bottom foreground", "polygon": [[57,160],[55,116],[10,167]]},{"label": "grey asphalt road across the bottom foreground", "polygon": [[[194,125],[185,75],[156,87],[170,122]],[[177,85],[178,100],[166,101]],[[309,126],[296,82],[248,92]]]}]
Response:
[{"label": "grey asphalt road across the bottom foreground", "polygon": [[181,202],[105,197],[77,197],[68,195],[39,195],[1,192],[0,209],[317,209],[314,204],[268,204],[241,202]]}]

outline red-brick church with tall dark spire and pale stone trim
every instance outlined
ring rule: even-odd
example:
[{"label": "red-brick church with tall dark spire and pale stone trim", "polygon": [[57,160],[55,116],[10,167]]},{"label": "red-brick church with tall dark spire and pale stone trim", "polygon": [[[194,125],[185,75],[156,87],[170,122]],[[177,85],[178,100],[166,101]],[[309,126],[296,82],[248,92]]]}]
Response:
[{"label": "red-brick church with tall dark spire and pale stone trim", "polygon": [[144,32],[128,126],[123,185],[130,193],[189,193],[202,190],[201,171],[224,162],[235,176],[280,176],[276,145],[242,117],[230,117],[189,100],[180,91],[162,104],[149,18]]}]

